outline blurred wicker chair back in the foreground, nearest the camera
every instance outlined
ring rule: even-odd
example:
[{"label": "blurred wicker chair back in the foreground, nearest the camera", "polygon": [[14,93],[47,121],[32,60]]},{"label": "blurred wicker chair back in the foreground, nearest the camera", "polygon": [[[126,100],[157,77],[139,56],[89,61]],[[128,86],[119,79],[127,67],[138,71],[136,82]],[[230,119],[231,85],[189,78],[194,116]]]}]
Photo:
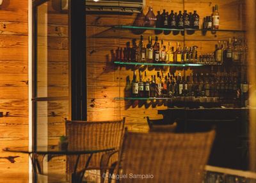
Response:
[{"label": "blurred wicker chair back in the foreground, nearest the camera", "polygon": [[[120,182],[201,183],[215,132],[174,134],[125,132]],[[127,175],[127,179],[122,179]],[[129,179],[153,175],[152,179]]]}]

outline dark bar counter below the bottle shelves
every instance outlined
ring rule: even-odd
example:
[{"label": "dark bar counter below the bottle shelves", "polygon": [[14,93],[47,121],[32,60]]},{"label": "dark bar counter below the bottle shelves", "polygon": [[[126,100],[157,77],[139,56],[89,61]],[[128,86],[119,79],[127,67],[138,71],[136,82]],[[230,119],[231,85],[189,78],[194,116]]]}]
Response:
[{"label": "dark bar counter below the bottle shelves", "polygon": [[248,170],[248,114],[256,108],[173,107],[159,110],[163,123],[177,123],[176,132],[216,130],[208,164],[223,168]]}]

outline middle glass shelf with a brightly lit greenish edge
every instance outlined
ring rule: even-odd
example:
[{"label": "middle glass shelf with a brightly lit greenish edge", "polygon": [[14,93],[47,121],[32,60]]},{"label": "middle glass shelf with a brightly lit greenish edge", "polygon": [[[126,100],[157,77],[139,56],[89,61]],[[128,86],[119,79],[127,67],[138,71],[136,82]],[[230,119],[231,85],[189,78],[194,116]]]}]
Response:
[{"label": "middle glass shelf with a brightly lit greenish edge", "polygon": [[119,65],[155,65],[155,66],[175,66],[175,67],[200,67],[204,64],[199,63],[139,63],[139,62],[124,62],[124,61],[114,61],[115,64]]}]

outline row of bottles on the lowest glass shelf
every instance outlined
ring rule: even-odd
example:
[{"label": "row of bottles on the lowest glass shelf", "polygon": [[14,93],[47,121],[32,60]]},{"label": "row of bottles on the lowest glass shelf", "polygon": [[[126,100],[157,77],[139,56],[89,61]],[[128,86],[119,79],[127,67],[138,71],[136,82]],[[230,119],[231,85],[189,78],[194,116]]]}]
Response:
[{"label": "row of bottles on the lowest glass shelf", "polygon": [[217,72],[216,74],[191,73],[190,76],[164,75],[157,72],[156,76],[137,79],[134,71],[132,79],[132,97],[223,97],[227,99],[239,99],[241,94],[248,93],[246,79],[241,79],[234,72]]}]

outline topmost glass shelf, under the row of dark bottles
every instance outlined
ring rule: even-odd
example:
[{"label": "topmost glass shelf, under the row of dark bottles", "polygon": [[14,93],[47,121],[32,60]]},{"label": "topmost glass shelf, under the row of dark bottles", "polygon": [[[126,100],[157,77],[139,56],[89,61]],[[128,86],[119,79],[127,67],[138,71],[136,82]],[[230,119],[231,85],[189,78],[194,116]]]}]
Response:
[{"label": "topmost glass shelf, under the row of dark bottles", "polygon": [[244,30],[232,30],[232,29],[167,29],[167,28],[150,28],[150,27],[137,27],[137,26],[113,26],[116,29],[145,29],[145,30],[161,30],[161,31],[212,31],[212,32],[245,32]]}]

